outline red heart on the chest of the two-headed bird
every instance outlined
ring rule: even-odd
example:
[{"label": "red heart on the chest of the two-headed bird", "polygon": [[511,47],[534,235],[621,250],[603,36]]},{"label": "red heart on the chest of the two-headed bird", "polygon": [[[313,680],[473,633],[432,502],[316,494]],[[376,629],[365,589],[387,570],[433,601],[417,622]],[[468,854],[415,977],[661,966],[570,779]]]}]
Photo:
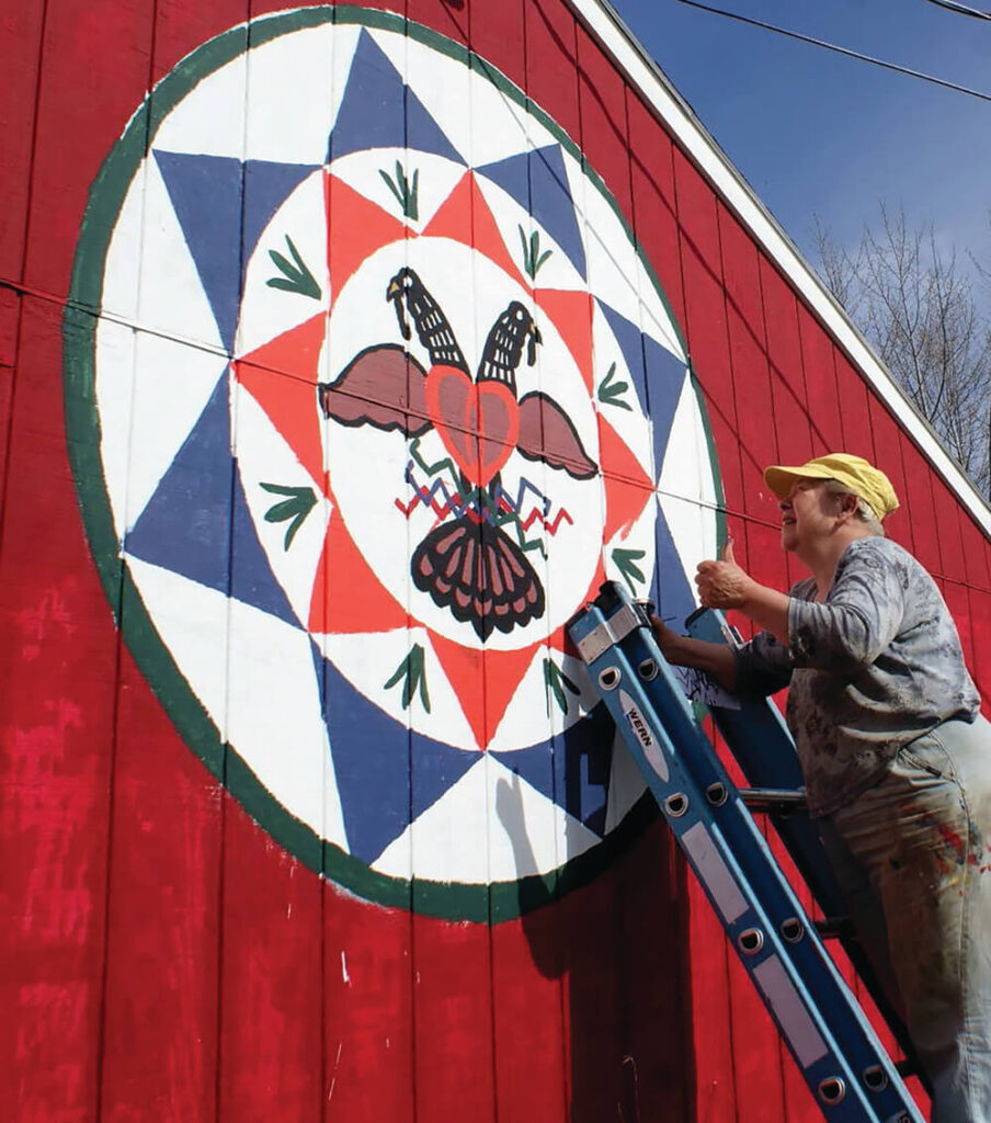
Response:
[{"label": "red heart on the chest of the two-headed bird", "polygon": [[426,408],[455,463],[484,487],[516,447],[516,395],[504,382],[472,382],[460,367],[438,365],[426,376]]}]

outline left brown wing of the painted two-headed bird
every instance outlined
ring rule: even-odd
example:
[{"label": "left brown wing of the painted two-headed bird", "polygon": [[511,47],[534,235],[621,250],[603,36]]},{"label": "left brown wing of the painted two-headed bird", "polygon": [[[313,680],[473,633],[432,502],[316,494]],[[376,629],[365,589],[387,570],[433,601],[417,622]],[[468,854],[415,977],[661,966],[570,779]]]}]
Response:
[{"label": "left brown wing of the painted two-headed bird", "polygon": [[320,384],[320,408],[341,424],[401,429],[419,437],[433,424],[423,385],[426,372],[402,347],[368,347],[333,382]]}]

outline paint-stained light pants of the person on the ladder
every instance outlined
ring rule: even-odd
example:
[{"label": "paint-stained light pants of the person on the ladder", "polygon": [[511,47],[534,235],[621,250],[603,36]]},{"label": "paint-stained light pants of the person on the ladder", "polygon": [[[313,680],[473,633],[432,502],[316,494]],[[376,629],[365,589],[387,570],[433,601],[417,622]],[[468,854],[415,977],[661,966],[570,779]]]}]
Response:
[{"label": "paint-stained light pants of the person on the ladder", "polygon": [[820,823],[864,950],[933,1083],[991,1123],[991,724],[951,721]]}]

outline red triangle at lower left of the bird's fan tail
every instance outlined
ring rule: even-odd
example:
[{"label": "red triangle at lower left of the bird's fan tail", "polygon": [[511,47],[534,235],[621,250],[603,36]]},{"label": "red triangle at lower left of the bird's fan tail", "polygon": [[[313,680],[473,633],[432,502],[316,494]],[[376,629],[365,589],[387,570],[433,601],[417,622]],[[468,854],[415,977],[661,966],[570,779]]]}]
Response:
[{"label": "red triangle at lower left of the bird's fan tail", "polygon": [[410,622],[403,606],[371,572],[334,509],[310,600],[311,632],[393,631]]}]

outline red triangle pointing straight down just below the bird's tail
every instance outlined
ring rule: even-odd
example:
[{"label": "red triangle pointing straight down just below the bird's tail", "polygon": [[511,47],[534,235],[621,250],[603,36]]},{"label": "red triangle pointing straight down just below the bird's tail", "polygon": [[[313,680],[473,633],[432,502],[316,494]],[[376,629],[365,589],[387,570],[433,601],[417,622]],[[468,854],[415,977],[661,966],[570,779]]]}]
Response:
[{"label": "red triangle pointing straight down just below the bird's tail", "polygon": [[485,749],[495,736],[506,706],[526,674],[539,643],[517,651],[492,651],[462,647],[430,633],[433,650],[461,704],[475,740]]}]

